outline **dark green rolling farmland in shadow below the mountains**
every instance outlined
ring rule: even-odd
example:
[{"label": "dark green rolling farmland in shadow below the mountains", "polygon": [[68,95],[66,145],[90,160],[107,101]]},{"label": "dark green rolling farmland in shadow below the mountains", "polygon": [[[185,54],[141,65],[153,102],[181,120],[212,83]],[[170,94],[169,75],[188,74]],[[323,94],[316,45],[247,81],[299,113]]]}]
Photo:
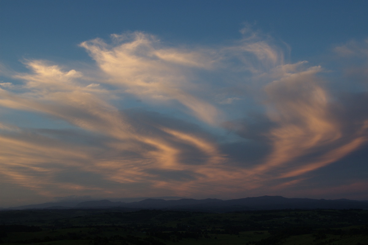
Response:
[{"label": "dark green rolling farmland in shadow below the mountains", "polygon": [[368,210],[8,210],[0,244],[368,245]]}]

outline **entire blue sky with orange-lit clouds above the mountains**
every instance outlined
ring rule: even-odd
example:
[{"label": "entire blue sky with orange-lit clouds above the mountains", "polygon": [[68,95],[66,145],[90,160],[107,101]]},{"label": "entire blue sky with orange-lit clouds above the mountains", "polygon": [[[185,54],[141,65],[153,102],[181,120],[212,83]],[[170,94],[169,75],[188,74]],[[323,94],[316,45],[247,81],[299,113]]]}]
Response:
[{"label": "entire blue sky with orange-lit clouds above the mountains", "polygon": [[0,0],[0,207],[368,200],[367,9]]}]

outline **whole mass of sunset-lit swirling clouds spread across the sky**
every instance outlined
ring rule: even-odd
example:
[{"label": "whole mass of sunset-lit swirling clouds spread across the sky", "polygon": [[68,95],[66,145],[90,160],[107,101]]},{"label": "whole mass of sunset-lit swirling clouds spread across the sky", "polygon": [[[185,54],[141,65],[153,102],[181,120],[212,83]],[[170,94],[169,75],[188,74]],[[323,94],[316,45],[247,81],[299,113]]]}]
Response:
[{"label": "whole mass of sunset-lit swirling clouds spread across the sky", "polygon": [[[321,66],[287,63],[269,36],[241,33],[216,48],[142,32],[82,42],[92,69],[26,60],[29,72],[0,83],[0,113],[27,112],[48,128],[1,122],[1,182],[44,197],[287,193],[367,145],[356,91],[333,89]],[[335,51],[353,58],[356,47]],[[345,76],[364,88],[366,71]]]}]

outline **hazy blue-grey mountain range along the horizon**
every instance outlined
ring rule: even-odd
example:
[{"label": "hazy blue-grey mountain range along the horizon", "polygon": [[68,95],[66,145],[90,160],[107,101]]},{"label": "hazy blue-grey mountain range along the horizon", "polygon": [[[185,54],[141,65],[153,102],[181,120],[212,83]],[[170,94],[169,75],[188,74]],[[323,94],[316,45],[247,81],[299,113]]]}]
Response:
[{"label": "hazy blue-grey mountain range along the horizon", "polygon": [[272,209],[368,209],[368,201],[348,199],[325,200],[309,198],[286,198],[282,196],[259,196],[241,199],[145,199],[139,202],[111,202],[110,200],[96,200],[86,202],[42,203],[8,209],[101,209],[117,208],[124,210],[162,209],[188,210],[204,212],[229,212],[244,210],[272,210]]}]

